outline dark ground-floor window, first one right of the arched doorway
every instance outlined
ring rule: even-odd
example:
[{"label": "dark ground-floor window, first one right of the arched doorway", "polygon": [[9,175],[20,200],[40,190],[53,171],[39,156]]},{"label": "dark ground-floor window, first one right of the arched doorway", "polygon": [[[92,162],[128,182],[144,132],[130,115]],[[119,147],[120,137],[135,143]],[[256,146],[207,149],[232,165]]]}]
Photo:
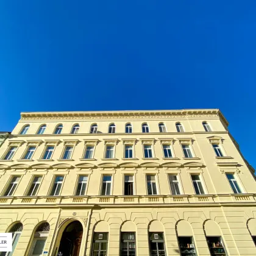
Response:
[{"label": "dark ground-floor window, first one right of the arched doorway", "polygon": [[107,256],[108,233],[94,232],[91,256]]}]

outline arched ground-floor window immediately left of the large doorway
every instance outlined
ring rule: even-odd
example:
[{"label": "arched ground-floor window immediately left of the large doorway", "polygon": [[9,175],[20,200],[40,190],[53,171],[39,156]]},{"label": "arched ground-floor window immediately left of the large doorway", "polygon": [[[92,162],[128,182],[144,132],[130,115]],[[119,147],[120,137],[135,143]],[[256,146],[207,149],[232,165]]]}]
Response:
[{"label": "arched ground-floor window immediately left of the large doorway", "polygon": [[34,233],[34,240],[30,249],[31,256],[43,255],[46,239],[48,238],[50,225],[48,222],[43,222],[38,226]]}]

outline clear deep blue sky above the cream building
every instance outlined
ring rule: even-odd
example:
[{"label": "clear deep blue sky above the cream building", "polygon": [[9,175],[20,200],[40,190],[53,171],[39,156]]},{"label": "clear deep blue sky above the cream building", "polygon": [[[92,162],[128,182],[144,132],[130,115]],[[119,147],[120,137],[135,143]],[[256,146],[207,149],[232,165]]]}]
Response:
[{"label": "clear deep blue sky above the cream building", "polygon": [[220,108],[255,160],[256,1],[0,1],[0,130],[20,112]]}]

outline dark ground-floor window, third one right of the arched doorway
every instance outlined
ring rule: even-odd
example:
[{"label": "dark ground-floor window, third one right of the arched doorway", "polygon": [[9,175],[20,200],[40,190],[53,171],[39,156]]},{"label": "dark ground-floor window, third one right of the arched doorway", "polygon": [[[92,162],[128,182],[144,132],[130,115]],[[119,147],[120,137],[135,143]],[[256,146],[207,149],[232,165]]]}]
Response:
[{"label": "dark ground-floor window, third one right of the arched doorway", "polygon": [[149,232],[149,249],[151,256],[165,256],[165,240],[162,232]]}]

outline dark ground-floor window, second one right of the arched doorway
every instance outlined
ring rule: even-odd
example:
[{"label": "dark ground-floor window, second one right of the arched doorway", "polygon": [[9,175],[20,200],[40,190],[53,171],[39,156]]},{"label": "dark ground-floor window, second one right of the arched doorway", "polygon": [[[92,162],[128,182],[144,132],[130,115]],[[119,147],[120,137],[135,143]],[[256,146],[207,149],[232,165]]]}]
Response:
[{"label": "dark ground-floor window, second one right of the arched doorway", "polygon": [[121,232],[121,256],[136,255],[135,232]]}]

